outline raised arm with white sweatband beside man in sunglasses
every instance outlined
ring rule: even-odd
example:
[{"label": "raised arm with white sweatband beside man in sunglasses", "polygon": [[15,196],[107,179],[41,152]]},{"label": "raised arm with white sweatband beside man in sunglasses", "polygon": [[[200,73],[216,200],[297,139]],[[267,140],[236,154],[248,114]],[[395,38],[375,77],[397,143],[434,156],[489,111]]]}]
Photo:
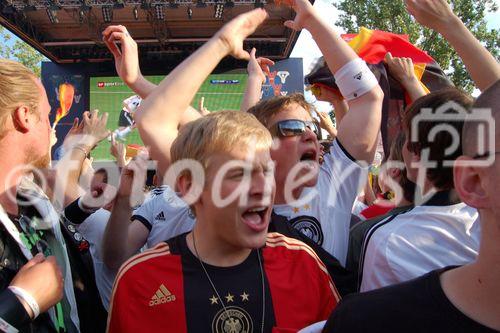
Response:
[{"label": "raised arm with white sweatband beside man in sunglasses", "polygon": [[[377,135],[382,118],[383,92],[380,86],[373,84],[375,79],[372,77],[373,74],[367,68],[363,68],[359,60],[357,63],[353,62],[359,59],[358,55],[319,16],[309,1],[285,0],[285,2],[289,3],[297,13],[295,20],[286,21],[285,25],[294,30],[305,28],[311,33],[323,53],[330,71],[335,75],[337,85],[348,100],[349,112],[342,120],[342,126],[339,127],[338,140],[355,159],[371,163],[377,146]],[[359,73],[353,76],[353,71],[357,72],[358,69]],[[360,74],[362,75],[360,76]],[[353,92],[353,88],[357,84],[353,77],[359,78],[360,82],[371,82],[371,84],[365,85],[365,87],[371,88],[362,90],[360,94]],[[365,79],[369,79],[369,81],[365,81]],[[342,81],[346,82],[347,85],[342,87],[340,84]]]}]

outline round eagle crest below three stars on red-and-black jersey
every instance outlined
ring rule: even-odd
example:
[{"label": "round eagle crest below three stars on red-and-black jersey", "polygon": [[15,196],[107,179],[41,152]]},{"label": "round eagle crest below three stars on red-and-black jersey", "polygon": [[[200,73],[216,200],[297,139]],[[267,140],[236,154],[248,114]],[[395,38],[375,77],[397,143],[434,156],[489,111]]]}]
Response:
[{"label": "round eagle crest below three stars on red-and-black jersey", "polygon": [[226,311],[221,309],[212,321],[213,333],[251,333],[253,332],[252,318],[240,307],[228,306]]}]

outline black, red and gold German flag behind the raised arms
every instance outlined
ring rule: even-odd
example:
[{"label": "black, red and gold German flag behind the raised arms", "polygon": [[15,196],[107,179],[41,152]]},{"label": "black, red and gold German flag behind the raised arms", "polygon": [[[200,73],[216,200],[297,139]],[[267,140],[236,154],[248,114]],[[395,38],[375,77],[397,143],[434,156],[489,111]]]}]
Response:
[{"label": "black, red and gold German flag behind the raised arms", "polygon": [[[385,55],[390,52],[393,57],[411,58],[415,74],[428,92],[451,87],[453,83],[431,56],[410,43],[407,35],[361,28],[358,34],[346,34],[342,38],[367,63],[384,91],[381,133],[384,151],[387,152],[392,140],[401,131],[401,116],[411,101],[401,84],[388,72]],[[323,58],[305,77],[305,83],[313,94],[319,87],[339,93],[335,78]]]}]

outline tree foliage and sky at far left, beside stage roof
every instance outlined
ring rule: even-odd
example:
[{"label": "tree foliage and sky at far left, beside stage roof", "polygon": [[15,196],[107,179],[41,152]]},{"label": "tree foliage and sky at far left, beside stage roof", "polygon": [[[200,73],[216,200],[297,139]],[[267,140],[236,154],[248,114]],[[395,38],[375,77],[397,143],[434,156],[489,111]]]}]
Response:
[{"label": "tree foliage and sky at far left, beside stage roof", "polygon": [[0,26],[0,58],[16,60],[40,76],[40,62],[47,60],[42,54]]}]

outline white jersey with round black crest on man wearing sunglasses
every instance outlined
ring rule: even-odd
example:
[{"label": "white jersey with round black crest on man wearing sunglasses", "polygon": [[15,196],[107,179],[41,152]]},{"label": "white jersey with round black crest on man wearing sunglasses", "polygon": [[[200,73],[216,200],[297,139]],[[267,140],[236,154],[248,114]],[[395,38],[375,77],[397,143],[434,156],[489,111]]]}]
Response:
[{"label": "white jersey with round black crest on man wearing sunglasses", "polygon": [[301,199],[308,200],[295,206],[274,205],[274,212],[286,217],[294,228],[345,266],[351,211],[358,191],[366,183],[367,172],[368,168],[357,164],[335,140],[324,156],[318,183],[302,191]]}]

